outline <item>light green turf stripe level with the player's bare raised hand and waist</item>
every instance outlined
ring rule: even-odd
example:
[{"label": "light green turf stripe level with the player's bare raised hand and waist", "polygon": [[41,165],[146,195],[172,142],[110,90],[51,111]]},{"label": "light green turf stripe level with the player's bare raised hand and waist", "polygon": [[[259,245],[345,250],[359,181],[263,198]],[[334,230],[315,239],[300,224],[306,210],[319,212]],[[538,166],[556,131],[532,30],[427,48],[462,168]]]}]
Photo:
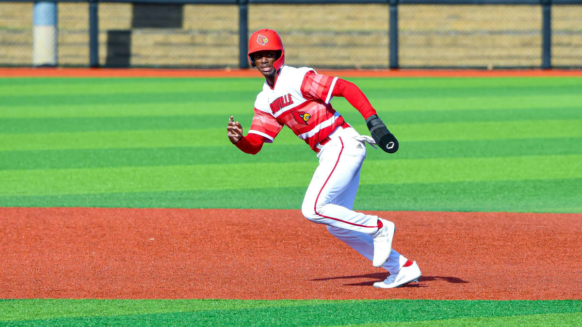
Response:
[{"label": "light green turf stripe level with the player's bare raised hand and waist", "polygon": [[[225,120],[228,121],[228,120]],[[226,126],[226,123],[225,125]],[[582,120],[520,120],[394,124],[390,130],[406,141],[499,140],[520,138],[582,137]],[[365,131],[365,125],[354,125]],[[245,129],[246,131],[246,129]],[[274,144],[301,143],[284,129]],[[91,131],[76,133],[0,134],[0,151],[95,148],[192,147],[229,144],[226,127],[183,130]],[[307,146],[306,146],[307,147]],[[306,151],[310,151],[306,149]]]}]

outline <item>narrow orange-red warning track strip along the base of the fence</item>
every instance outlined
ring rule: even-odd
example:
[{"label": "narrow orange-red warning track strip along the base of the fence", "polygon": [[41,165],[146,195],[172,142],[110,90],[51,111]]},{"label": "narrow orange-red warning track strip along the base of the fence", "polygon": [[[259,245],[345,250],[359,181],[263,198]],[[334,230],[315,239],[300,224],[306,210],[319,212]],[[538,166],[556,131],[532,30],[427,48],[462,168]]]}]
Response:
[{"label": "narrow orange-red warning track strip along the base of the fence", "polygon": [[[342,70],[317,69],[339,77],[582,77],[582,70]],[[0,67],[0,77],[262,77],[254,69],[157,69],[157,68],[11,68]]]}]

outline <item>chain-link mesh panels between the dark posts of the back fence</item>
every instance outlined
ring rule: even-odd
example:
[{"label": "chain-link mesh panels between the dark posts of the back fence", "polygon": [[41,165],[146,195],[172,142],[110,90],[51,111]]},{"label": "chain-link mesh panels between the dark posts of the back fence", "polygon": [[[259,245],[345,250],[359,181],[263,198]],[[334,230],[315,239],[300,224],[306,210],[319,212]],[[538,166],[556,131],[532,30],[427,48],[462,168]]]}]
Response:
[{"label": "chain-link mesh panels between the dark posts of the back fence", "polygon": [[[57,3],[57,65],[90,64],[88,6]],[[247,6],[248,32],[278,31],[289,65],[390,66],[388,3]],[[551,10],[552,66],[582,67],[582,2]],[[237,68],[239,13],[236,4],[99,2],[98,64]],[[0,2],[0,65],[33,65],[34,33],[33,2]],[[542,6],[398,5],[398,66],[541,67]]]}]

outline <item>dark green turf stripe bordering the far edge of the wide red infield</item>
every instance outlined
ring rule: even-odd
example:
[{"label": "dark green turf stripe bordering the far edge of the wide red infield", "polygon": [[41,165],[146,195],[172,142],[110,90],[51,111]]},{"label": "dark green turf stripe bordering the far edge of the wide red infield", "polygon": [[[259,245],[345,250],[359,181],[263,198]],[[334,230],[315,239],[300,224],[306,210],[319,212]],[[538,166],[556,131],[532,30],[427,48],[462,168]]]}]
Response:
[{"label": "dark green turf stripe bordering the far edge of the wide red infield", "polygon": [[[297,209],[307,186],[0,196],[3,207]],[[240,196],[244,194],[244,196]],[[504,211],[579,213],[582,179],[364,184],[354,208],[379,211]]]}]

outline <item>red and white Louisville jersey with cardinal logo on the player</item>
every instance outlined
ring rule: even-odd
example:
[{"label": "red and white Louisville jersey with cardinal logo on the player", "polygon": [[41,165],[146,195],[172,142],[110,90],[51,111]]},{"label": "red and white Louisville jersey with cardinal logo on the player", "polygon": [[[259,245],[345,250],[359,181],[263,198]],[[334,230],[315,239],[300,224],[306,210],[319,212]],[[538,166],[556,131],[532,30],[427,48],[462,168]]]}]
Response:
[{"label": "red and white Louisville jersey with cardinal logo on the player", "polygon": [[272,143],[286,125],[315,151],[317,143],[344,123],[329,103],[337,80],[308,67],[282,66],[275,87],[265,81],[257,95],[249,133]]}]

